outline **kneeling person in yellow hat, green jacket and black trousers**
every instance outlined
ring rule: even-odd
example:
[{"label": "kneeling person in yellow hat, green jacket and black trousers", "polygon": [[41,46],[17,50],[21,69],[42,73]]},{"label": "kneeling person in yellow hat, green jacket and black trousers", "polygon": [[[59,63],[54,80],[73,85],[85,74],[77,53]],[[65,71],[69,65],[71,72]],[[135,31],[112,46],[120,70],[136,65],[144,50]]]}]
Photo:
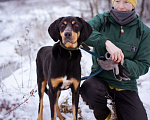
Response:
[{"label": "kneeling person in yellow hat, green jacket and black trousers", "polygon": [[85,42],[93,52],[110,59],[92,56],[91,74],[80,88],[83,100],[93,109],[97,120],[108,120],[111,112],[107,96],[113,99],[118,120],[147,120],[146,110],[138,95],[136,79],[150,67],[150,28],[135,12],[137,0],[112,0],[108,12],[87,21],[93,28]]}]

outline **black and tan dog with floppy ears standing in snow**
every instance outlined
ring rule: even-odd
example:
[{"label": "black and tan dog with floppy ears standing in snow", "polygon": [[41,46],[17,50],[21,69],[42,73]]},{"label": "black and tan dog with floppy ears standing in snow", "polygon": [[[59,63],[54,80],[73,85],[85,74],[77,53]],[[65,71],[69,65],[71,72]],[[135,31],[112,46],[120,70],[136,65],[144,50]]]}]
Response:
[{"label": "black and tan dog with floppy ears standing in snow", "polygon": [[[62,17],[54,21],[48,32],[57,42],[54,46],[42,47],[37,55],[37,83],[39,92],[38,120],[43,119],[43,95],[50,100],[51,120],[65,118],[58,108],[60,91],[71,88],[73,120],[77,120],[79,87],[81,81],[80,44],[92,33],[91,26],[79,17]],[[49,89],[46,88],[48,83]]]}]

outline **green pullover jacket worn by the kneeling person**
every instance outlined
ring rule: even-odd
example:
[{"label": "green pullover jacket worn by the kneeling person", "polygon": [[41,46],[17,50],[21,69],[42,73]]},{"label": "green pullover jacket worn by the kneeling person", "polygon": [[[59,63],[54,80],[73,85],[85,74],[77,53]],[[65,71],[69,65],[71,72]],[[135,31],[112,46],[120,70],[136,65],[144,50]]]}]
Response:
[{"label": "green pullover jacket worn by the kneeling person", "polygon": [[[108,16],[108,13],[98,14],[87,21],[92,26],[93,32],[85,43],[92,46],[93,51],[99,56],[106,53],[106,40],[119,47],[125,56],[123,65],[130,71],[131,80],[116,80],[112,70],[103,70],[97,77],[104,79],[110,86],[137,92],[136,79],[146,74],[150,66],[150,28],[144,25],[137,15],[137,19],[122,27],[124,33],[121,33],[121,26]],[[94,74],[101,67],[96,57],[92,57],[92,60],[91,74]]]}]

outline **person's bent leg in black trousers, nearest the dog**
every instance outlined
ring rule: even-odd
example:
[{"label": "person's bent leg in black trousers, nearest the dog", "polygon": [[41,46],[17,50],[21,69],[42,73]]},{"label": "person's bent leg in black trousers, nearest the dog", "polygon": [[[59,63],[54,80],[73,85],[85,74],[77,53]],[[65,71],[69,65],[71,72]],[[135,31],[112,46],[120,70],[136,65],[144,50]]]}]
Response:
[{"label": "person's bent leg in black trousers, nearest the dog", "polygon": [[107,84],[97,77],[88,78],[80,88],[83,101],[89,105],[90,109],[94,110],[94,115],[97,120],[105,120],[110,113],[105,97],[107,90]]}]

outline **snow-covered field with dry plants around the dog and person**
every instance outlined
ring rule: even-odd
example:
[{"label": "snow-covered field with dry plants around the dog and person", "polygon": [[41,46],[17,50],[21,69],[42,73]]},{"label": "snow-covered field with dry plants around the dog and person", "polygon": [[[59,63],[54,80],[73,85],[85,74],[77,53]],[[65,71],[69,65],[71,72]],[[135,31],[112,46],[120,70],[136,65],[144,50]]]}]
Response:
[{"label": "snow-covered field with dry plants around the dog and person", "polygon": [[[72,6],[76,6],[73,8]],[[35,120],[38,116],[36,53],[41,46],[53,45],[47,33],[52,21],[61,16],[80,16],[78,1],[0,2],[0,120]],[[90,73],[91,55],[82,51],[82,76]],[[138,79],[139,95],[150,120],[150,73]],[[59,105],[66,120],[72,119],[71,90],[62,91]],[[3,109],[2,109],[3,108]],[[5,108],[5,109],[4,109]],[[78,117],[95,120],[93,111],[79,100]],[[50,119],[48,96],[44,95],[44,120]]]}]

